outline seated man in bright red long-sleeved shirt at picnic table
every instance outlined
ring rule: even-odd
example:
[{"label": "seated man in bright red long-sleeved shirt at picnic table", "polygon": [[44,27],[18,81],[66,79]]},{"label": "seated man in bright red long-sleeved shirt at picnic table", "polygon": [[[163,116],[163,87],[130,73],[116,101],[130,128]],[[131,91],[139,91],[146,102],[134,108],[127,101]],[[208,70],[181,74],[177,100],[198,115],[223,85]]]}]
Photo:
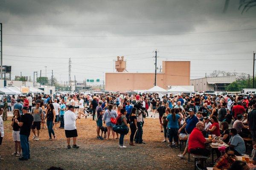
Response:
[{"label": "seated man in bright red long-sleeved shirt at picnic table", "polygon": [[206,140],[204,135],[201,133],[203,129],[204,123],[199,121],[192,130],[192,133],[189,136],[189,153],[201,156],[210,156],[210,151],[205,148],[205,144],[216,142],[216,140]]}]

